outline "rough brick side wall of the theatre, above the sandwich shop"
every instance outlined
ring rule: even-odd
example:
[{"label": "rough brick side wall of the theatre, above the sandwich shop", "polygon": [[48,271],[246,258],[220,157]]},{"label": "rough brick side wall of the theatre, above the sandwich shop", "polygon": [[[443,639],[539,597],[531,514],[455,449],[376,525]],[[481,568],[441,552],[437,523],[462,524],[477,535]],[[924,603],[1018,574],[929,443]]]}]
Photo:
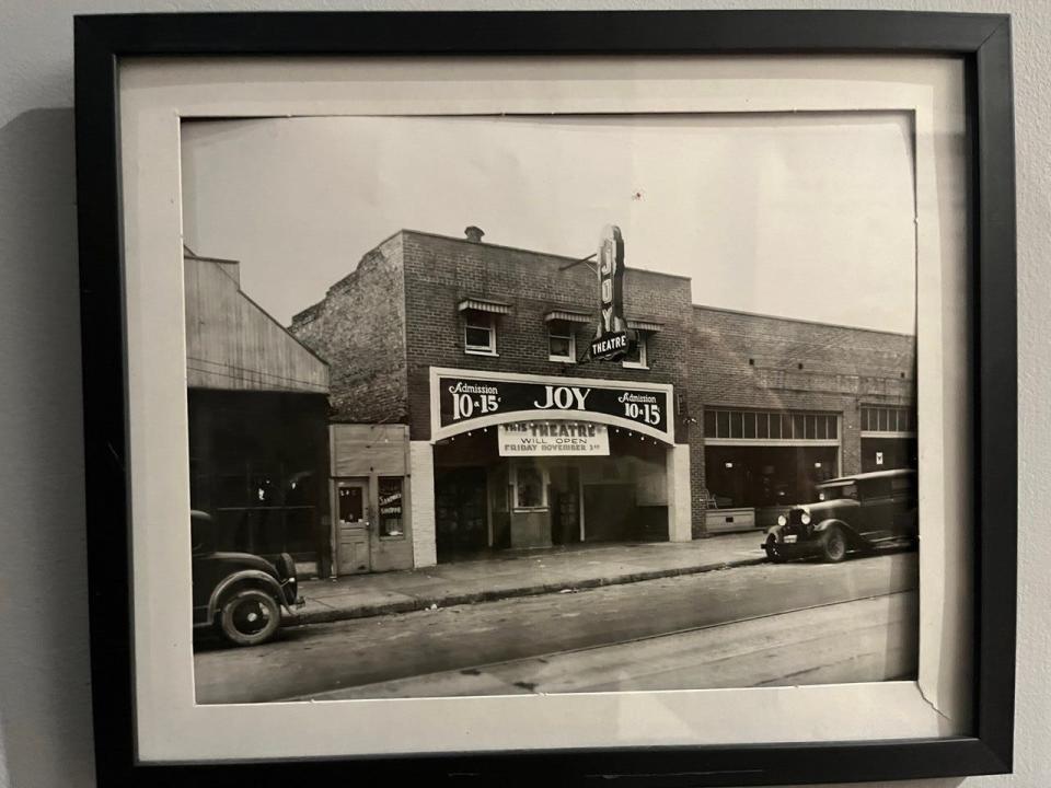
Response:
[{"label": "rough brick side wall of the theatre, above the sandwich shop", "polygon": [[289,331],[331,366],[335,421],[404,421],[405,286],[402,237],[393,235],[292,318]]}]

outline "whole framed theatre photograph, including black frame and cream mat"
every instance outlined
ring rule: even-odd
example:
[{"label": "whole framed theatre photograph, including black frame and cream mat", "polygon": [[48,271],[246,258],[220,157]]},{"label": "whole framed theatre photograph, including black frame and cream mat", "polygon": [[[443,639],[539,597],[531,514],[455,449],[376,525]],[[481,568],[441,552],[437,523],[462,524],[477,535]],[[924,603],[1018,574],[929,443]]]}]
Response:
[{"label": "whole framed theatre photograph, including black frame and cream mat", "polygon": [[76,47],[101,785],[1010,770],[1008,18]]}]

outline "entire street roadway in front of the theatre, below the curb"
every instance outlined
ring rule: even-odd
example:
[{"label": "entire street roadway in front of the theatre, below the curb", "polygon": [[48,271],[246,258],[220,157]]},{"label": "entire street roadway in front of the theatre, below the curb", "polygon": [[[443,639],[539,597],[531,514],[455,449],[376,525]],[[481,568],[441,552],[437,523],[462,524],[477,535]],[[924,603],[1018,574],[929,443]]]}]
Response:
[{"label": "entire street roadway in front of the theatre, below the curb", "polygon": [[195,654],[197,702],[909,679],[917,556],[763,564],[292,627]]}]

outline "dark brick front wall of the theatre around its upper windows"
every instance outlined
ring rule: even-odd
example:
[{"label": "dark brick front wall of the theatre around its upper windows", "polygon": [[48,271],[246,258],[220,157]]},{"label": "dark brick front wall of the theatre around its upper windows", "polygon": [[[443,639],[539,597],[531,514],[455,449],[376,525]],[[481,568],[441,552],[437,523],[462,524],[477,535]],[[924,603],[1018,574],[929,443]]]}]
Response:
[{"label": "dark brick front wall of the theatre around its upper windows", "polygon": [[[620,362],[567,364],[547,359],[544,315],[552,310],[594,311],[597,277],[587,265],[563,270],[571,258],[411,231],[402,233],[402,251],[413,440],[430,437],[429,367],[649,381],[684,391],[691,334],[688,279],[632,268],[625,273],[627,317],[663,326],[649,336],[648,370],[624,369]],[[464,352],[464,318],[457,305],[465,298],[510,304],[510,314],[497,316],[498,356]],[[579,358],[593,338],[594,323],[574,328]],[[686,442],[679,424],[677,437]]]}]

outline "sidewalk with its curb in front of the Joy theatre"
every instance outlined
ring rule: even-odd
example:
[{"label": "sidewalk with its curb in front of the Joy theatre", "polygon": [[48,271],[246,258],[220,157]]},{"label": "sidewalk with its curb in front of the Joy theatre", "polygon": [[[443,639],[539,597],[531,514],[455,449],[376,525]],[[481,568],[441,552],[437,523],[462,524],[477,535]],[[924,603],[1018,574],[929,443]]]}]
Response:
[{"label": "sidewalk with its curb in front of the Joy theatre", "polygon": [[523,551],[426,569],[308,580],[300,584],[307,604],[288,624],[408,613],[762,564],[766,559],[762,540],[757,529],[693,542]]}]

